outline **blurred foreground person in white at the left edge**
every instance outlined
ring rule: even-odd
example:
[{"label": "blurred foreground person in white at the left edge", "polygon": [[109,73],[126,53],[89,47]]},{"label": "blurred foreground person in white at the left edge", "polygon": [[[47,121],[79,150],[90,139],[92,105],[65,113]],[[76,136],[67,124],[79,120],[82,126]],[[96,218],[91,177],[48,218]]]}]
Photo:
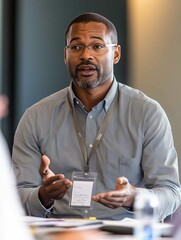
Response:
[{"label": "blurred foreground person in white at the left edge", "polygon": [[[0,118],[8,114],[8,98],[0,96]],[[16,180],[10,166],[9,149],[0,130],[0,239],[33,240],[29,229],[22,222],[23,209],[16,192]]]}]

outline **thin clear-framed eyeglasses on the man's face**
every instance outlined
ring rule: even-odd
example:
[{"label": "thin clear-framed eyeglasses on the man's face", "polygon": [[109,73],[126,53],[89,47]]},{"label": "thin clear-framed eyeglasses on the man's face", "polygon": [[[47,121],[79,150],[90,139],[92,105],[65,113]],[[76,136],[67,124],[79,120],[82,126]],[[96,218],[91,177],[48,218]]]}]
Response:
[{"label": "thin clear-framed eyeglasses on the man's face", "polygon": [[94,55],[103,55],[106,53],[108,47],[115,47],[117,44],[90,44],[90,45],[69,45],[66,48],[72,54],[81,54],[85,48],[88,48],[89,51]]}]

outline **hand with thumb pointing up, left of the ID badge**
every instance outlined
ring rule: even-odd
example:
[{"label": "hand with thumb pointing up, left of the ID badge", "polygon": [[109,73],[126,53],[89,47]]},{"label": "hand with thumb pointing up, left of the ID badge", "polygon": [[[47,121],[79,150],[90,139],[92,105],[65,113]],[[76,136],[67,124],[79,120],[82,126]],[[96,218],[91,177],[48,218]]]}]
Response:
[{"label": "hand with thumb pointing up, left of the ID badge", "polygon": [[46,207],[50,207],[54,200],[61,199],[66,191],[72,186],[72,182],[65,178],[63,174],[54,174],[50,168],[50,159],[42,156],[39,172],[43,180],[43,184],[39,189],[39,198],[41,203]]}]

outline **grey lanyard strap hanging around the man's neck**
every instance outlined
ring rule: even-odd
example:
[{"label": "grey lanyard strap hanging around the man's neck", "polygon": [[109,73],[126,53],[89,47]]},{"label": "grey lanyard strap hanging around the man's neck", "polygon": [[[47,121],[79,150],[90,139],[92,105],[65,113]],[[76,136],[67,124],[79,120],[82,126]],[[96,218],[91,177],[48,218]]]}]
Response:
[{"label": "grey lanyard strap hanging around the man's neck", "polygon": [[117,87],[117,90],[116,90],[116,94],[115,94],[115,97],[111,103],[111,106],[109,107],[102,123],[101,123],[101,126],[96,134],[96,137],[94,139],[94,142],[93,142],[93,147],[92,147],[92,150],[90,152],[90,155],[88,156],[88,153],[87,153],[87,148],[86,148],[86,144],[85,144],[85,141],[84,141],[84,138],[82,136],[82,133],[81,133],[81,130],[80,130],[80,125],[79,125],[79,121],[78,121],[78,118],[77,118],[77,114],[75,112],[75,108],[72,107],[72,110],[73,110],[73,122],[74,122],[74,127],[75,127],[75,131],[76,131],[76,134],[77,134],[77,138],[79,140],[79,145],[80,145],[80,149],[81,149],[81,152],[82,152],[82,155],[84,157],[84,160],[85,160],[85,167],[84,167],[84,171],[87,173],[89,172],[89,161],[90,161],[90,158],[91,156],[93,155],[93,153],[96,151],[98,145],[100,144],[101,140],[102,140],[102,137],[106,131],[106,128],[109,124],[109,122],[111,121],[111,118],[113,116],[113,112],[116,111],[116,107],[118,105],[118,87]]}]

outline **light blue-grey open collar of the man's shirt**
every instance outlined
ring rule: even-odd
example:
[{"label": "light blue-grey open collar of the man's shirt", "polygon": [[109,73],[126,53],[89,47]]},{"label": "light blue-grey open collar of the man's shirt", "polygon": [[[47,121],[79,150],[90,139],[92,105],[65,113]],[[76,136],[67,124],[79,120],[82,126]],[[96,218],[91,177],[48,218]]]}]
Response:
[{"label": "light blue-grey open collar of the man's shirt", "polygon": [[[117,90],[117,81],[116,81],[116,78],[114,77],[113,83],[112,83],[112,86],[111,86],[109,92],[107,93],[105,98],[101,101],[102,102],[102,106],[103,106],[103,108],[104,108],[104,110],[106,112],[108,111],[108,109],[109,109],[109,107],[110,107],[110,105],[111,105],[111,103],[112,103],[112,101],[114,99],[114,96],[116,94],[116,90]],[[75,106],[75,103],[78,103],[79,106],[84,108],[83,103],[75,96],[75,94],[73,92],[72,82],[71,82],[70,88],[69,88],[69,96],[70,96],[70,102],[71,102],[72,106]]]}]

